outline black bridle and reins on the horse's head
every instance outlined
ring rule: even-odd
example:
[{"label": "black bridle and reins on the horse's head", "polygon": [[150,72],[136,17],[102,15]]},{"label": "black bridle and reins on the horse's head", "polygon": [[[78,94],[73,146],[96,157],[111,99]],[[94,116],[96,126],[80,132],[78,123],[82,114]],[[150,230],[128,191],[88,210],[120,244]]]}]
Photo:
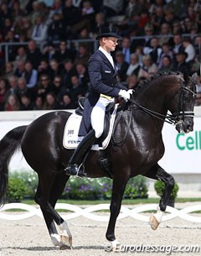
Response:
[{"label": "black bridle and reins on the horse's head", "polygon": [[[192,79],[191,79],[191,81],[193,82]],[[163,122],[166,122],[166,123],[177,125],[179,123],[183,123],[185,118],[193,118],[194,117],[194,112],[189,112],[189,111],[184,111],[183,110],[183,106],[184,106],[184,91],[189,91],[190,93],[193,94],[193,97],[195,97],[197,95],[194,91],[192,91],[191,89],[189,89],[186,86],[185,81],[183,80],[182,86],[180,87],[180,89],[175,93],[175,95],[171,99],[171,101],[172,101],[173,98],[178,95],[178,92],[180,92],[179,102],[178,102],[178,112],[174,112],[173,114],[168,114],[167,113],[167,115],[163,115],[163,114],[161,114],[159,112],[153,111],[152,109],[149,109],[147,107],[143,107],[142,105],[138,104],[137,102],[135,102],[133,100],[133,95],[131,96],[129,101],[133,105],[135,105],[135,106],[139,107],[140,109],[142,109],[144,112],[147,112],[148,114],[150,114],[152,117],[160,119],[160,120],[162,120]]]}]

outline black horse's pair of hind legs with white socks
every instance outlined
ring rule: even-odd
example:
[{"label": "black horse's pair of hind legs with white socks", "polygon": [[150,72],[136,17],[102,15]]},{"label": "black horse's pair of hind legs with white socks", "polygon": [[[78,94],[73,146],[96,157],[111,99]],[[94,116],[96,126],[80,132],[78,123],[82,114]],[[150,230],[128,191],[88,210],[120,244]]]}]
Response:
[{"label": "black horse's pair of hind legs with white socks", "polygon": [[[44,180],[46,181],[43,183]],[[69,176],[62,174],[54,175],[51,179],[47,174],[45,178],[39,175],[39,187],[35,196],[35,201],[39,204],[43,212],[52,243],[54,243],[55,246],[59,246],[61,249],[69,246],[71,248],[72,246],[72,236],[69,227],[67,223],[64,222],[64,219],[54,210],[56,201],[64,191],[67,180],[69,180]],[[54,222],[56,222],[63,231],[62,239],[57,232]],[[67,241],[68,244],[66,243]]]}]

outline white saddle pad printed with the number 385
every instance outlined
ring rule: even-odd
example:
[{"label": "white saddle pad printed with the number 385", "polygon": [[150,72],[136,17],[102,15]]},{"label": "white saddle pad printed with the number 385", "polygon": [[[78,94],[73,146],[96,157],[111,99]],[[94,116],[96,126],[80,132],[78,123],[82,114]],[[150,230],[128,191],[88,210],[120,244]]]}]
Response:
[{"label": "white saddle pad printed with the number 385", "polygon": [[[111,133],[114,127],[115,118],[116,118],[116,109],[118,104],[116,104],[114,111],[111,114],[111,121],[110,121],[110,129],[107,137],[102,142],[102,146],[100,147],[98,144],[92,146],[92,150],[99,150],[99,149],[106,149],[110,140],[111,140]],[[64,137],[63,137],[63,145],[65,149],[75,149],[80,141],[84,137],[78,136],[80,123],[81,123],[81,116],[77,115],[75,112],[72,113],[70,118],[65,124],[64,128]]]}]

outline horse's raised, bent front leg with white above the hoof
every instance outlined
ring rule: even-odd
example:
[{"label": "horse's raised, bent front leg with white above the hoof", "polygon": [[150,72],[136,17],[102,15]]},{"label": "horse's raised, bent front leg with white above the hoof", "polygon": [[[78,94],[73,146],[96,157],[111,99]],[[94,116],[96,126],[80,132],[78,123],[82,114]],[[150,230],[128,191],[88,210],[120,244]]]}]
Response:
[{"label": "horse's raised, bent front leg with white above the hoof", "polygon": [[173,191],[174,178],[172,175],[163,170],[162,167],[158,164],[154,165],[151,170],[148,170],[144,176],[154,180],[162,180],[165,183],[165,189],[159,202],[159,209],[157,214],[152,215],[150,218],[152,229],[157,229],[157,226],[162,219],[162,212],[165,212],[168,201],[170,199],[170,194]]}]

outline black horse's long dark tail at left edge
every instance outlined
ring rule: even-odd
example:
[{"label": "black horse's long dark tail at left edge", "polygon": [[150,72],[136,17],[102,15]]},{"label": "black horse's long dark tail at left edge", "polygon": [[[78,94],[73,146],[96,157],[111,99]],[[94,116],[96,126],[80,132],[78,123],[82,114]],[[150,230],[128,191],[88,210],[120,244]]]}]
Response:
[{"label": "black horse's long dark tail at left edge", "polygon": [[0,205],[3,205],[8,188],[8,165],[19,148],[27,126],[19,126],[9,131],[0,141]]}]

